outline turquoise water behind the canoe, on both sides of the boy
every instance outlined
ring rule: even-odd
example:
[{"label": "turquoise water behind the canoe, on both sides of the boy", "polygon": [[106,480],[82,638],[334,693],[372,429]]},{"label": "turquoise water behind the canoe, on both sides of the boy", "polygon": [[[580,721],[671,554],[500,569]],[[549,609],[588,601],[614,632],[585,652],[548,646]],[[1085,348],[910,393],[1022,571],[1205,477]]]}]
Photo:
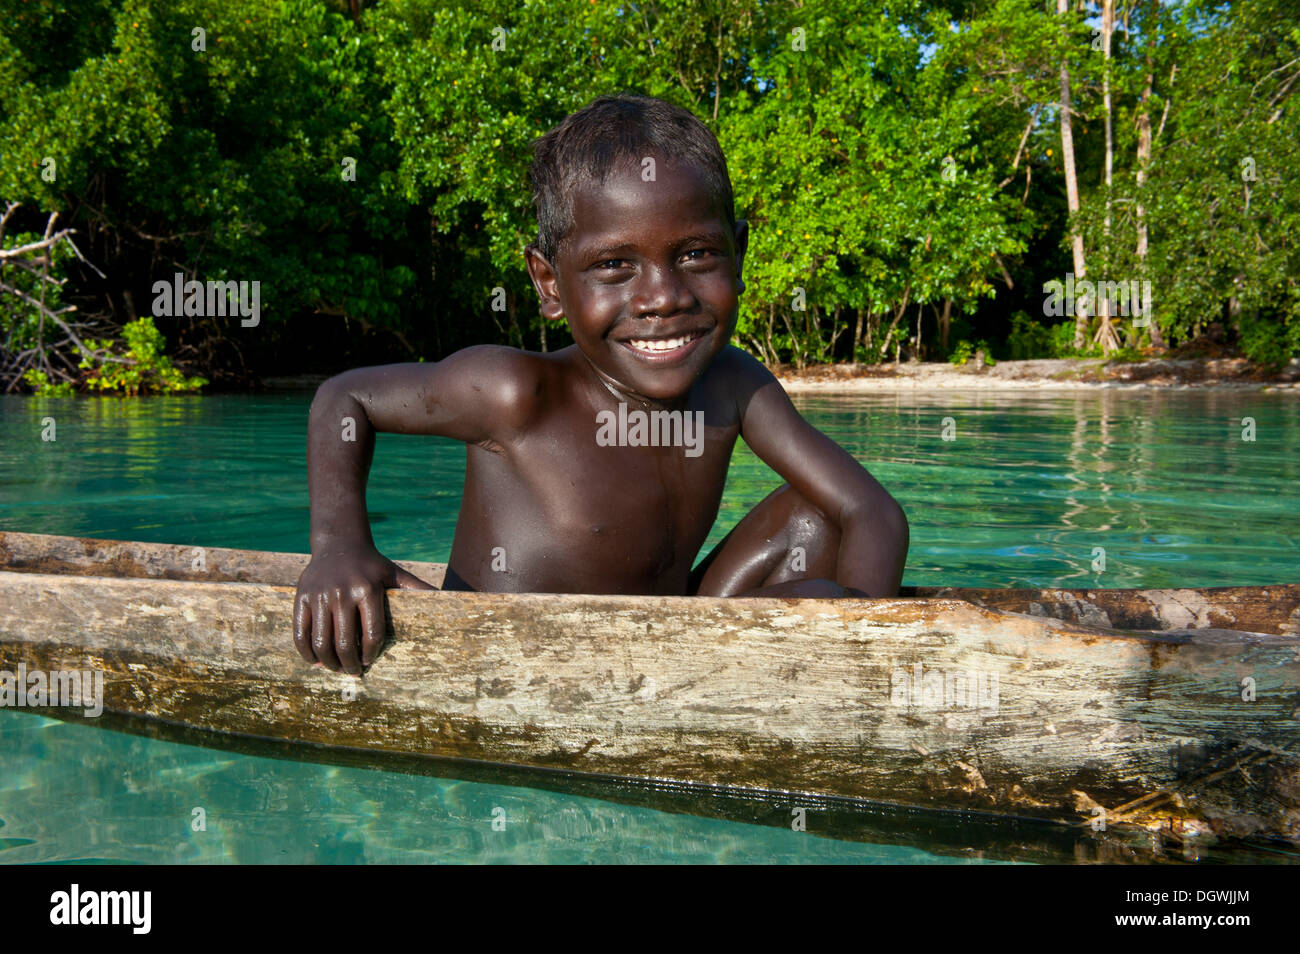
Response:
[{"label": "turquoise water behind the canoe, on both sides of the boy", "polygon": [[[306,552],[309,395],[0,398],[0,529]],[[1300,400],[1240,393],[800,398],[911,521],[905,584],[1300,580]],[[53,417],[56,441],[42,442]],[[1242,420],[1254,420],[1243,441]],[[954,439],[944,441],[952,419]],[[465,451],[381,434],[389,556],[451,551]],[[744,445],[706,550],[780,478]],[[1105,569],[1093,571],[1093,547]]]}]

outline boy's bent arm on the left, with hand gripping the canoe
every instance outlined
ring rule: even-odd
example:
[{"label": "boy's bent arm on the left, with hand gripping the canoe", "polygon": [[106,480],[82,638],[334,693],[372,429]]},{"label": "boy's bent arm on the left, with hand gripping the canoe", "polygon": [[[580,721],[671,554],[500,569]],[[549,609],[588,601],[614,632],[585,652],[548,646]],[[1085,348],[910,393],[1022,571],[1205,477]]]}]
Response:
[{"label": "boy's bent arm on the left, with hand gripping the canoe", "polygon": [[536,409],[533,361],[482,346],[436,364],[359,368],[321,385],[307,432],[312,559],[294,598],[303,659],[360,673],[384,645],[384,590],[433,589],[374,547],[365,511],[374,434],[508,442]]}]

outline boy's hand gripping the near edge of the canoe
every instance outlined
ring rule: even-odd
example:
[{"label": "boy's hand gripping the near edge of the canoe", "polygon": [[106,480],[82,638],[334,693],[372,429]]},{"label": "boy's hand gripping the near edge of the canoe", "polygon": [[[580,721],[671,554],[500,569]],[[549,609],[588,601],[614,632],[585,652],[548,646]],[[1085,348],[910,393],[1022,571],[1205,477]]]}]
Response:
[{"label": "boy's hand gripping the near edge of the canoe", "polygon": [[384,647],[384,590],[433,590],[374,547],[312,556],[294,595],[294,645],[308,663],[360,676]]}]

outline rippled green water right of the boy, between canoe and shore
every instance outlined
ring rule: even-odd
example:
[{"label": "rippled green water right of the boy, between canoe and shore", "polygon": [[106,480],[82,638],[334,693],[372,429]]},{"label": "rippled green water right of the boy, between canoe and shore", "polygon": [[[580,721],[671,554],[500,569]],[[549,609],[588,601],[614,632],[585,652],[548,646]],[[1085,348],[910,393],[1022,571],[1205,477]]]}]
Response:
[{"label": "rippled green water right of the boy, between canoe and shore", "polygon": [[[937,393],[797,403],[906,508],[907,584],[1300,580],[1295,396]],[[942,439],[946,417],[952,441]],[[1253,442],[1242,439],[1243,419],[1256,422]]]}]

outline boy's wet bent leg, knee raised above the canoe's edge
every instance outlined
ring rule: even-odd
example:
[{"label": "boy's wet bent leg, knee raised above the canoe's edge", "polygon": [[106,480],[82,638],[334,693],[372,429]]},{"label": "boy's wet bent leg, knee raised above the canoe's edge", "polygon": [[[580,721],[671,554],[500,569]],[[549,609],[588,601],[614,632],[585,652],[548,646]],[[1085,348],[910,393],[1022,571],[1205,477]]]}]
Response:
[{"label": "boy's wet bent leg, knee raised above the canoe's edge", "polygon": [[[692,571],[689,591],[701,597],[738,597],[789,584],[789,589],[798,590],[797,595],[842,597],[846,591],[833,582],[838,554],[840,528],[784,483],[746,513]],[[814,586],[810,582],[814,580],[826,582]],[[800,581],[803,585],[796,587]]]}]

